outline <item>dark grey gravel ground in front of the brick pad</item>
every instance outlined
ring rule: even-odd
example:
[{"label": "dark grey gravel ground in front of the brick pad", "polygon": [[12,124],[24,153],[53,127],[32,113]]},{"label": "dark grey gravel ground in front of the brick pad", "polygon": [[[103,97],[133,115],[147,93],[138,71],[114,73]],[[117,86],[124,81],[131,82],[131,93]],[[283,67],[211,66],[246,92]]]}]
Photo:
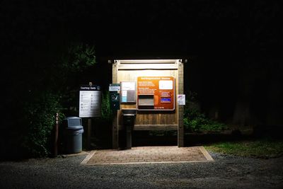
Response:
[{"label": "dark grey gravel ground in front of the brick pad", "polygon": [[0,188],[283,188],[283,157],[253,159],[209,151],[215,161],[81,165],[86,155],[0,163]]}]

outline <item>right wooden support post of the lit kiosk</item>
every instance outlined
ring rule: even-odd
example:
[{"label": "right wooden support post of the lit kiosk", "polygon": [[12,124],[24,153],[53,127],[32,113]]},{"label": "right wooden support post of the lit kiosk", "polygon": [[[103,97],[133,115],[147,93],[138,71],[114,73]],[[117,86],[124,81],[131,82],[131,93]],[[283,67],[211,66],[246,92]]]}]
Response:
[{"label": "right wooden support post of the lit kiosk", "polygon": [[[178,60],[178,94],[184,93],[184,65]],[[178,105],[178,147],[184,147],[184,106]]]}]

